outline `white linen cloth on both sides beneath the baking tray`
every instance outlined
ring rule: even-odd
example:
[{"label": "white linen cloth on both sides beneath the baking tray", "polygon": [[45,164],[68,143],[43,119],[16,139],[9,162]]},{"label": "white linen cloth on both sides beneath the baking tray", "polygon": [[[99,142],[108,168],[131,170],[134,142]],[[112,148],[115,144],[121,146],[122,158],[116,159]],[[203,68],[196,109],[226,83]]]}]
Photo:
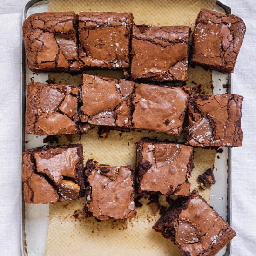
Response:
[{"label": "white linen cloth on both sides beneath the baking tray", "polygon": [[[26,0],[0,0],[0,13],[21,12]],[[225,0],[246,24],[232,75],[244,96],[243,147],[232,148],[232,256],[256,255],[256,1]],[[6,7],[6,8],[5,8]],[[19,256],[21,145],[21,14],[0,15],[0,255]]]}]

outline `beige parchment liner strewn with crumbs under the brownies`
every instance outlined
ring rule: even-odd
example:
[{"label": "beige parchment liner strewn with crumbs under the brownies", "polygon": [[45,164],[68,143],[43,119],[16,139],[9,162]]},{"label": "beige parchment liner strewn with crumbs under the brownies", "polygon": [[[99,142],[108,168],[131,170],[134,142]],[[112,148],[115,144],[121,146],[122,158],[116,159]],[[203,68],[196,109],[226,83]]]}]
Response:
[{"label": "beige parchment liner strewn with crumbs under the brownies", "polygon": [[[190,25],[193,27],[199,9],[214,6],[214,0],[49,0],[49,11],[129,11],[136,24]],[[122,77],[121,72],[87,71],[108,77]],[[61,84],[80,84],[80,75],[49,74],[49,80]],[[195,87],[195,94],[212,94],[210,71],[201,67],[189,67],[187,86]],[[176,138],[151,131],[120,132],[111,130],[107,138],[99,138],[97,128],[81,136],[59,136],[58,144],[82,143],[85,161],[94,158],[110,165],[135,165],[135,142],[143,137],[184,141],[184,135]],[[189,179],[191,189],[198,189],[199,174],[213,168],[216,150],[195,148],[195,168]],[[199,193],[209,202],[210,190]],[[152,229],[159,218],[153,214],[147,200],[141,200],[137,216],[127,221],[102,221],[84,218],[85,199],[50,205],[47,236],[47,256],[179,256],[177,246]],[[161,198],[164,202],[164,198]]]}]

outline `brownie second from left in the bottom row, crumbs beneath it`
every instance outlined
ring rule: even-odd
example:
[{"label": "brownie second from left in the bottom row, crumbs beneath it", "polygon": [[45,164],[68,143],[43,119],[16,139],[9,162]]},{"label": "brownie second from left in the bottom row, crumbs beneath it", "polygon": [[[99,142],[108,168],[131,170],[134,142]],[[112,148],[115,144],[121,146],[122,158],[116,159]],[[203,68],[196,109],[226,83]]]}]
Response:
[{"label": "brownie second from left in the bottom row, crumbs beneath it", "polygon": [[132,166],[100,165],[90,159],[86,163],[86,217],[98,220],[123,220],[136,215]]}]

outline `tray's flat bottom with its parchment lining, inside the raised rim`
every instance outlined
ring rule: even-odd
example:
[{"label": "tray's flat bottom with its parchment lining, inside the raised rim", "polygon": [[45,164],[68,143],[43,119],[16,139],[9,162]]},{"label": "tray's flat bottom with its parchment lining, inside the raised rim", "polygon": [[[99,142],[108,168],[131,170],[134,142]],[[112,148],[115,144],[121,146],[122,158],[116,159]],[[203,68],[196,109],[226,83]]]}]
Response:
[{"label": "tray's flat bottom with its parchment lining, inside the raised rim", "polygon": [[[125,6],[125,8],[124,8]],[[152,25],[190,25],[193,26],[195,18],[201,7],[214,7],[212,0],[50,0],[40,1],[28,9],[27,16],[42,11],[95,10],[95,11],[131,11],[137,24]],[[215,6],[216,8],[216,6]],[[168,15],[162,15],[162,13]],[[150,18],[150,19],[149,19]],[[90,71],[88,74],[121,77],[121,72]],[[33,75],[26,67],[26,82],[34,77],[35,81],[55,81],[62,84],[79,84],[81,75],[63,73],[50,73]],[[211,73],[202,67],[189,67],[189,81],[187,86],[196,87],[195,94],[222,94],[226,88],[228,76],[218,72]],[[24,88],[23,88],[24,89]],[[24,105],[23,105],[24,107]],[[136,141],[148,136],[158,139],[168,138],[176,141],[171,135],[149,131],[120,132],[110,131],[108,138],[99,138],[97,128],[79,138],[77,135],[59,136],[59,144],[82,143],[84,158],[94,158],[98,162],[111,165],[135,164]],[[26,150],[43,145],[44,136],[26,135],[24,142]],[[179,139],[182,141],[182,138]],[[129,144],[128,144],[129,143]],[[226,219],[227,215],[227,158],[228,149],[223,153],[213,149],[197,148],[194,152],[195,168],[190,182],[192,188],[198,189],[196,179],[207,168],[213,168],[216,184],[211,190],[200,190],[199,193],[208,201],[216,211]],[[218,158],[219,157],[219,158]],[[171,241],[163,238],[151,227],[158,219],[144,200],[143,207],[137,209],[137,217],[128,221],[96,222],[93,218],[83,218],[82,208],[84,198],[74,202],[61,202],[50,205],[26,205],[24,211],[24,241],[25,253],[31,255],[181,255]],[[164,202],[164,198],[162,198]],[[223,255],[226,248],[218,255]]]}]

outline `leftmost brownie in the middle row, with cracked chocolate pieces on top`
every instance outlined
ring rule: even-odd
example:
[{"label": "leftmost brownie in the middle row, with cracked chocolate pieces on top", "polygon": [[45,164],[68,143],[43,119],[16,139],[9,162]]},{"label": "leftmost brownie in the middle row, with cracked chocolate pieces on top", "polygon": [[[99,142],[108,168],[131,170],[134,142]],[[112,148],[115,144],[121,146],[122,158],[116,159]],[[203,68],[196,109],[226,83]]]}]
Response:
[{"label": "leftmost brownie in the middle row, with cracked chocolate pieces on top", "polygon": [[78,96],[78,86],[28,83],[26,133],[77,133]]}]

